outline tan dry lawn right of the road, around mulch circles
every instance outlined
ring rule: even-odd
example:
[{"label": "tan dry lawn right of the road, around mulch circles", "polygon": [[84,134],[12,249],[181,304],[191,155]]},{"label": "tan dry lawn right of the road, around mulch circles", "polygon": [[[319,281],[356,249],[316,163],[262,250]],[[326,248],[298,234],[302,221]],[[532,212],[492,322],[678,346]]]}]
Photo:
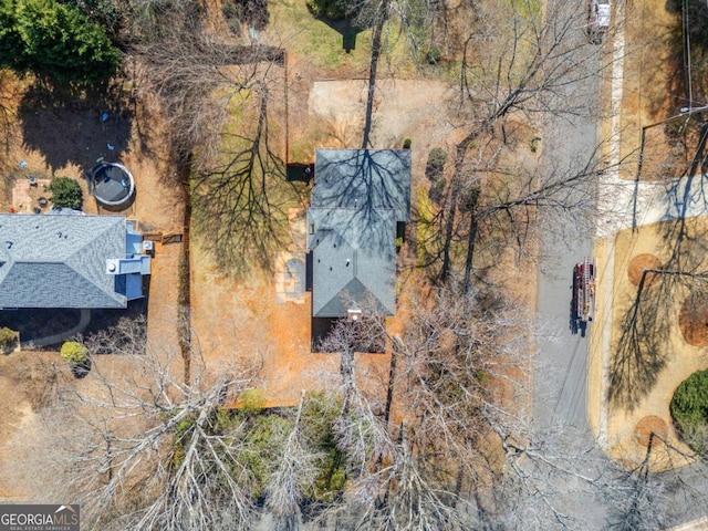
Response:
[{"label": "tan dry lawn right of the road, around mulch circles", "polygon": [[[696,226],[700,233],[705,233],[708,228],[708,220],[705,218],[694,218],[689,221],[690,226]],[[613,257],[610,257],[612,250],[608,246],[598,246],[597,262],[601,271],[600,284],[607,282],[607,272],[603,273],[603,266],[612,268],[612,291],[607,290],[598,298],[598,306],[594,323],[595,334],[593,335],[593,355],[592,355],[592,374],[591,374],[591,404],[600,405],[600,408],[606,408],[606,433],[602,434],[605,438],[607,448],[615,458],[627,460],[629,462],[641,462],[646,456],[646,440],[643,439],[643,429],[641,423],[653,418],[652,423],[657,434],[666,435],[669,446],[675,450],[669,450],[663,444],[657,444],[653,448],[652,464],[654,469],[663,469],[667,467],[676,467],[687,464],[687,459],[681,455],[688,456],[693,452],[679,440],[673,425],[669,414],[669,403],[676,387],[686,379],[693,372],[704,369],[708,363],[708,348],[706,346],[691,346],[686,342],[684,334],[679,327],[678,315],[681,304],[685,302],[688,292],[685,289],[676,289],[671,292],[671,296],[663,301],[662,306],[656,309],[645,309],[645,311],[666,312],[668,315],[667,330],[664,331],[643,331],[646,334],[660,335],[658,356],[663,358],[664,367],[657,372],[657,378],[654,385],[646,391],[638,393],[641,398],[636,404],[613,404],[607,400],[601,389],[607,391],[607,382],[601,383],[600,371],[603,363],[601,355],[601,337],[597,332],[602,329],[611,330],[610,353],[605,354],[605,374],[610,374],[616,363],[617,343],[623,332],[622,322],[627,313],[632,301],[636,296],[637,287],[631,278],[633,271],[633,261],[643,256],[650,254],[656,257],[658,261],[664,263],[668,260],[671,246],[665,239],[667,223],[653,223],[639,227],[636,232],[626,229],[617,233],[614,242]],[[702,252],[702,251],[701,251]],[[705,260],[704,260],[705,264]],[[705,266],[704,266],[705,267]],[[647,290],[660,289],[663,280],[656,280],[646,288]],[[612,303],[608,303],[608,296],[612,296]],[[638,371],[646,371],[645,366],[639,366]],[[637,384],[637,389],[639,386]],[[593,393],[594,392],[594,393]],[[595,407],[593,417],[595,423],[598,421],[600,410]],[[658,421],[657,421],[658,420]],[[595,424],[595,429],[600,426]]]}]

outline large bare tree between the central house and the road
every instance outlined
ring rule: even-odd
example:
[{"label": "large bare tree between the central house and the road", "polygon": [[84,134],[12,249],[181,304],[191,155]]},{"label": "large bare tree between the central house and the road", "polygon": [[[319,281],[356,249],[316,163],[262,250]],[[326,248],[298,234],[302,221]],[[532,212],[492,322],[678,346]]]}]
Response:
[{"label": "large bare tree between the central house and the road", "polygon": [[[520,0],[503,11],[491,4],[477,10],[479,23],[466,40],[459,92],[459,110],[469,133],[455,147],[444,208],[441,281],[451,272],[458,233],[467,237],[465,277],[469,278],[472,248],[485,236],[479,230],[485,218],[499,222],[507,217],[503,226],[518,231],[519,225],[529,226],[525,219],[533,219],[533,208],[546,206],[541,198],[553,197],[548,204],[562,202],[562,208],[573,209],[577,201],[573,191],[583,190],[590,197],[597,162],[581,162],[570,173],[544,175],[538,181],[540,174],[524,171],[519,162],[508,175],[500,174],[497,166],[500,146],[516,140],[511,122],[540,129],[551,115],[570,118],[597,113],[587,104],[592,92],[583,91],[607,62],[600,52],[589,51],[579,24],[583,7],[573,6],[552,1],[541,12],[533,2]],[[500,34],[507,39],[499,40]],[[482,153],[480,146],[485,146]],[[525,164],[533,168],[538,163]],[[524,179],[524,173],[533,178]],[[475,201],[469,201],[469,190],[478,190]],[[494,197],[496,190],[503,190],[506,197]],[[470,217],[469,229],[457,219],[465,215]]]}]

